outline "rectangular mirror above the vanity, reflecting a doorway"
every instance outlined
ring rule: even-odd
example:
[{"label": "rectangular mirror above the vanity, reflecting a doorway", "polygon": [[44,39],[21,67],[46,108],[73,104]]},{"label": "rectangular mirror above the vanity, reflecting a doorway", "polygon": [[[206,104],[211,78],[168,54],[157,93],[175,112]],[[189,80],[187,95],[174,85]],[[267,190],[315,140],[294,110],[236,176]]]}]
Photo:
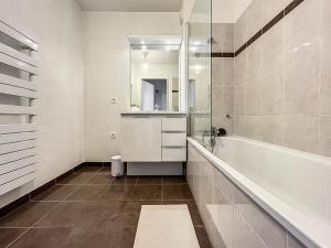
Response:
[{"label": "rectangular mirror above the vanity, reflecting a doorway", "polygon": [[179,111],[179,37],[131,37],[130,110]]}]

